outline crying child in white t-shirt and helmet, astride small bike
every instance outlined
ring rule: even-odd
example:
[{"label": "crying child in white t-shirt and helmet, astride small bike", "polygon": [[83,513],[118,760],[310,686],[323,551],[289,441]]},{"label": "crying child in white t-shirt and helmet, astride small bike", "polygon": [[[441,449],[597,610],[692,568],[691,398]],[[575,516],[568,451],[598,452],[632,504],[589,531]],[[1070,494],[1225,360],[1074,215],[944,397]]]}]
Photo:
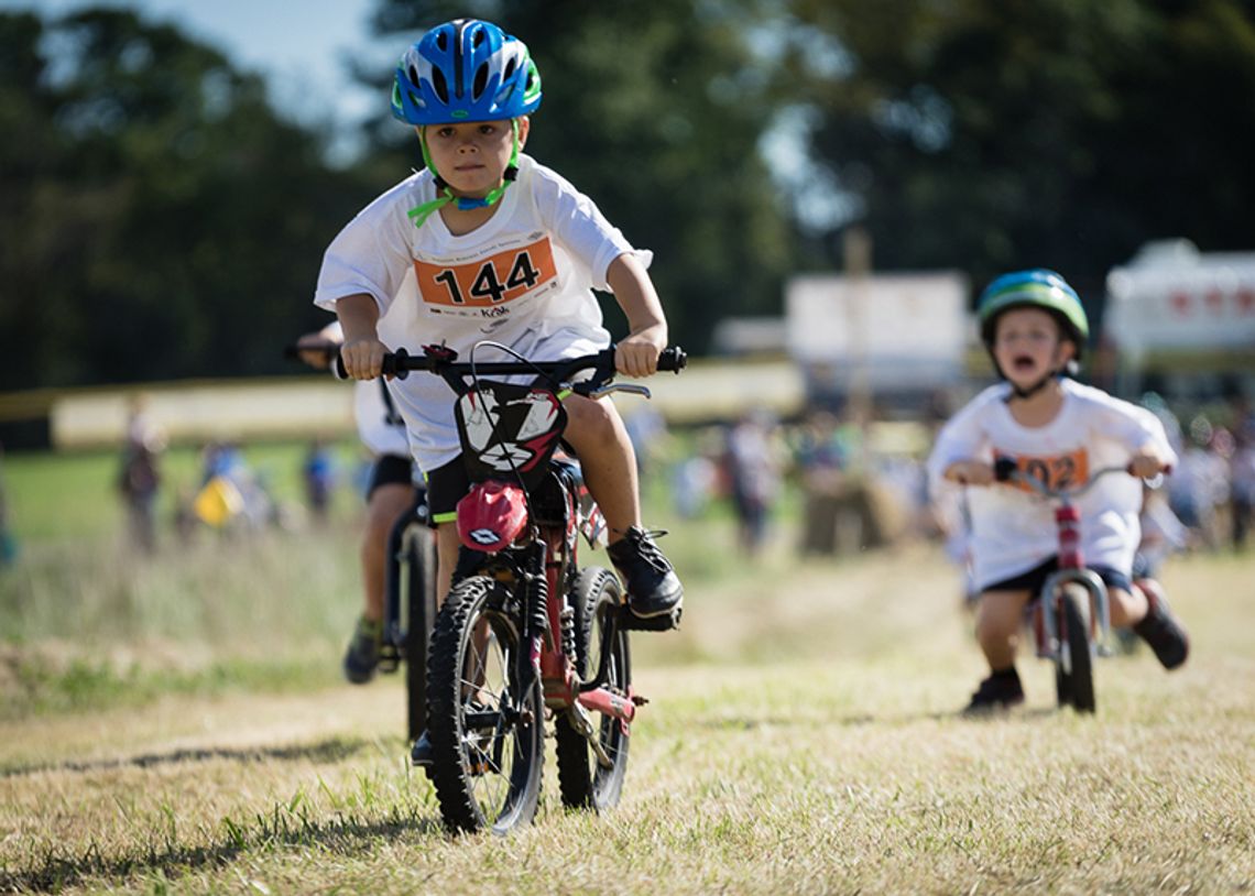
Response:
[{"label": "crying child in white t-shirt and helmet, astride small bike", "polygon": [[[1069,379],[1089,336],[1076,291],[1053,271],[1007,274],[976,309],[980,335],[1001,383],[985,389],[937,435],[929,458],[934,493],[969,489],[973,575],[980,591],[976,639],[990,675],[969,713],[1024,700],[1015,648],[1024,609],[1057,568],[1052,507],[1030,491],[994,484],[993,463],[1012,458],[1047,484],[1081,484],[1088,472],[1128,466],[1137,477],[1167,471],[1176,454],[1153,414]],[[1141,482],[1106,477],[1077,499],[1083,552],[1107,585],[1113,626],[1131,626],[1166,669],[1185,663],[1188,639],[1152,580],[1131,579]]]}]

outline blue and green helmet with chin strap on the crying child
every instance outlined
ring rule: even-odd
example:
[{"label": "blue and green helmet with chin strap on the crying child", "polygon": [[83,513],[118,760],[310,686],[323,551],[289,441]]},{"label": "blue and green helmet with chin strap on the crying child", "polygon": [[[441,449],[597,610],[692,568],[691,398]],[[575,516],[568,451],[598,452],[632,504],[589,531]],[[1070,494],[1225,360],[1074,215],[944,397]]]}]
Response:
[{"label": "blue and green helmet with chin strap on the crying child", "polygon": [[1089,320],[1086,317],[1081,296],[1068,285],[1067,280],[1054,271],[1033,267],[1027,271],[1004,274],[994,280],[980,294],[980,301],[976,302],[976,319],[980,321],[980,339],[989,351],[990,360],[994,361],[994,369],[998,370],[999,376],[1004,378],[1005,375],[994,358],[994,329],[999,315],[1013,307],[1039,307],[1043,311],[1049,311],[1059,321],[1063,338],[1071,341],[1076,349],[1065,369],[1049,374],[1028,389],[1015,389],[1017,395],[1027,398],[1044,387],[1052,378],[1077,371],[1086,341],[1089,339]]}]

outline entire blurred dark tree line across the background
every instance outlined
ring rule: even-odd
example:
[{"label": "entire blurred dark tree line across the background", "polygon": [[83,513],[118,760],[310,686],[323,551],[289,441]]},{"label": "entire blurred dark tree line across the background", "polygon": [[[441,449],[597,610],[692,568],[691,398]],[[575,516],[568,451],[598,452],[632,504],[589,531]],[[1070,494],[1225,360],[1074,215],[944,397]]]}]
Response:
[{"label": "entire blurred dark tree line across the background", "polygon": [[[840,264],[851,222],[881,270],[979,286],[1047,265],[1091,305],[1147,240],[1255,247],[1251,0],[375,10],[398,56],[468,14],[528,43],[528,152],[655,251],[689,349],[720,317],[777,312],[789,272]],[[282,370],[277,346],[325,320],[310,295],[331,237],[420,164],[390,75],[369,152],[335,169],[256,74],[172,26],[0,13],[0,390]],[[786,124],[801,153],[764,158]]]}]

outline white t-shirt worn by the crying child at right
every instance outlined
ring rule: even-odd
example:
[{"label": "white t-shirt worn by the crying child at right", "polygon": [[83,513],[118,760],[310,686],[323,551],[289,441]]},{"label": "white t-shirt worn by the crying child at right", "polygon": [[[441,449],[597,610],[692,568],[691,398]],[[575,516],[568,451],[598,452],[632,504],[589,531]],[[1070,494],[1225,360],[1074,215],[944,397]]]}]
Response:
[{"label": "white t-shirt worn by the crying child at right", "polygon": [[[934,496],[946,484],[956,461],[993,463],[1012,457],[1022,469],[1045,476],[1054,486],[1086,482],[1102,467],[1123,467],[1138,449],[1155,444],[1168,463],[1163,424],[1148,410],[1102,389],[1062,380],[1063,405],[1044,427],[1020,425],[1007,407],[1010,385],[1000,383],[976,395],[937,435],[929,457]],[[1087,563],[1130,575],[1141,538],[1141,481],[1109,474],[1076,499],[1081,511],[1081,545]],[[973,579],[979,590],[1012,579],[1058,553],[1055,502],[1027,487],[994,483],[968,489],[971,513]]]}]

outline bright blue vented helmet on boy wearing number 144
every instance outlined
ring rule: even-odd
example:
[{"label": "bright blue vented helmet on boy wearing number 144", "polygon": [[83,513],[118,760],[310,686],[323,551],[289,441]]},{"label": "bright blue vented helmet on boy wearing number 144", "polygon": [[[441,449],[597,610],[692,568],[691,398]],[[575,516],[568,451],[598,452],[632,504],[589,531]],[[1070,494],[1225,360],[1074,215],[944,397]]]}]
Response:
[{"label": "bright blue vented helmet on boy wearing number 144", "polygon": [[491,21],[437,25],[397,65],[393,115],[409,124],[518,118],[541,104],[541,77],[527,45]]}]

